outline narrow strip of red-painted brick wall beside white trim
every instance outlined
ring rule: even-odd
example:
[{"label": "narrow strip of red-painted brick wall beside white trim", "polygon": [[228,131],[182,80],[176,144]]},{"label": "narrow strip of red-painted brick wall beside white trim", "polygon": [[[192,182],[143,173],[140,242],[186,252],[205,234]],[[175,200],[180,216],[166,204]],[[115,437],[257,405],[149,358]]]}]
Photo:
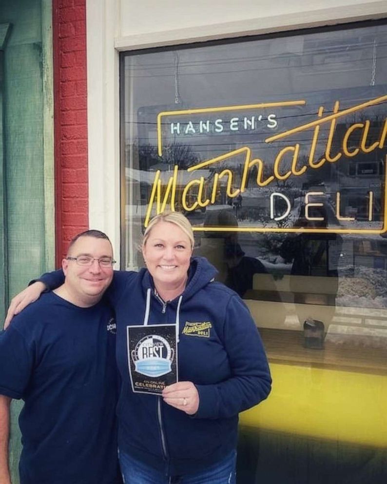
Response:
[{"label": "narrow strip of red-painted brick wall beside white trim", "polygon": [[56,263],[88,229],[86,0],[53,0]]}]

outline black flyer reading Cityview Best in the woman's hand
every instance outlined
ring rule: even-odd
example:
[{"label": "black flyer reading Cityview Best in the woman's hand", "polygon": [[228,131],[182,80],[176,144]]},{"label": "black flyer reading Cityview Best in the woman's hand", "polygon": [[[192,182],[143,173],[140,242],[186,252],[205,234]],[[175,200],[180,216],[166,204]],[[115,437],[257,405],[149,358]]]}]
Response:
[{"label": "black flyer reading Cityview Best in the woman's hand", "polygon": [[175,324],[127,326],[128,367],[135,393],[160,395],[178,381]]}]

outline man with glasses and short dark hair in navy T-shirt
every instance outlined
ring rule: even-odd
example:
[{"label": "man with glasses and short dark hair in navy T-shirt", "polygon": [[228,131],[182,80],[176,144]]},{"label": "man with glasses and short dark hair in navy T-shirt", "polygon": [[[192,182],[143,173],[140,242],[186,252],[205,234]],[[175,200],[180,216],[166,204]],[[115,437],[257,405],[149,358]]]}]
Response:
[{"label": "man with glasses and short dark hair in navy T-shirt", "polygon": [[0,484],[8,470],[9,403],[24,400],[20,484],[117,484],[115,323],[101,301],[113,249],[97,230],[78,234],[65,282],[0,334]]}]

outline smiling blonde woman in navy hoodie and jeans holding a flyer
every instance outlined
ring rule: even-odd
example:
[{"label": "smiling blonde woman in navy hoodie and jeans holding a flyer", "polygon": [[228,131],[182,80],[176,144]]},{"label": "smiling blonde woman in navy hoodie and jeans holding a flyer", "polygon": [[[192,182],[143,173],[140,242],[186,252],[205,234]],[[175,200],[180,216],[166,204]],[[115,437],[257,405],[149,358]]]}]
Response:
[{"label": "smiling blonde woman in navy hoodie and jeans holding a flyer", "polygon": [[[116,310],[118,443],[126,484],[235,483],[238,413],[270,392],[269,366],[248,308],[214,282],[215,269],[192,258],[193,248],[183,215],[158,215],[143,237],[146,268],[116,272],[108,289]],[[176,325],[180,381],[162,396],[134,393],[127,327],[160,323]],[[206,323],[208,333],[185,333],[187,323]]]}]

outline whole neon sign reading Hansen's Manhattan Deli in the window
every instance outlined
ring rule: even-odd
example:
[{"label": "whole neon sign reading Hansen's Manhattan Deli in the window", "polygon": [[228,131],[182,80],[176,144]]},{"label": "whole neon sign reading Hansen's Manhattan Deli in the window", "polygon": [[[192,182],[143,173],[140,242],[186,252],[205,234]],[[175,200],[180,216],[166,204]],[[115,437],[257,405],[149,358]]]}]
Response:
[{"label": "whole neon sign reading Hansen's Manhattan Deli in the window", "polygon": [[[333,136],[337,126],[337,120],[344,118],[349,114],[358,112],[360,110],[366,109],[370,106],[375,106],[382,102],[387,101],[387,95],[381,96],[361,104],[354,105],[352,107],[340,110],[340,102],[336,101],[334,103],[332,114],[324,114],[324,106],[320,106],[316,119],[314,121],[300,124],[286,131],[282,131],[276,134],[268,136],[264,141],[267,145],[270,145],[274,141],[286,139],[292,135],[300,132],[312,130],[312,136],[310,138],[310,144],[305,146],[300,144],[300,142],[290,143],[285,147],[281,147],[277,152],[272,161],[268,163],[264,159],[254,158],[252,154],[252,149],[249,146],[241,146],[237,149],[226,152],[220,156],[216,156],[209,160],[200,161],[197,164],[191,165],[187,168],[188,173],[199,173],[199,170],[211,167],[212,176],[211,180],[206,179],[204,176],[198,176],[197,178],[191,179],[184,186],[178,185],[179,169],[177,165],[174,166],[173,174],[169,177],[168,182],[162,186],[161,182],[161,171],[155,172],[155,177],[152,184],[152,190],[150,199],[148,202],[147,213],[145,217],[144,225],[147,226],[151,218],[153,208],[155,206],[156,213],[162,213],[167,205],[169,205],[172,211],[176,210],[176,205],[179,204],[185,212],[193,212],[198,208],[205,209],[208,206],[214,205],[217,202],[217,197],[219,196],[219,187],[223,181],[226,183],[226,193],[229,199],[234,199],[241,194],[243,194],[247,189],[248,179],[252,175],[252,169],[254,169],[255,176],[255,186],[256,187],[268,187],[271,183],[275,181],[285,181],[291,177],[300,177],[304,175],[307,170],[318,170],[325,163],[336,163],[344,156],[346,158],[356,157],[358,154],[362,153],[368,155],[374,150],[383,149],[386,145],[387,138],[387,119],[384,120],[380,133],[378,135],[378,140],[369,141],[369,131],[371,126],[371,120],[364,119],[361,122],[354,122],[346,126],[346,131],[340,140],[340,143],[335,143],[336,151],[333,152]],[[236,105],[236,106],[222,106],[214,108],[200,108],[200,109],[187,109],[187,110],[177,110],[177,111],[163,111],[157,115],[157,148],[158,154],[161,157],[163,154],[163,130],[162,123],[165,119],[172,119],[167,123],[169,126],[171,134],[203,134],[203,133],[221,133],[220,126],[224,127],[224,121],[220,118],[222,112],[226,111],[243,111],[246,113],[247,110],[260,110],[272,108],[282,108],[289,106],[305,106],[305,100],[299,101],[284,101],[284,102],[271,102],[271,103],[260,103],[260,104],[248,104],[248,105]],[[214,121],[203,117],[202,115],[210,115],[216,113],[219,117]],[[194,115],[201,115],[201,119],[195,124],[189,118]],[[259,120],[260,115],[252,116],[240,116],[234,117],[228,121],[228,128],[230,130],[236,131],[237,129],[250,129],[252,130]],[[177,117],[177,121],[176,121]],[[186,117],[184,119],[184,117]],[[182,121],[183,120],[183,121]],[[220,121],[222,124],[220,124]],[[267,124],[266,127],[271,129],[277,127],[277,119],[275,114],[271,113],[266,116],[264,120]],[[212,130],[210,129],[210,124],[212,122]],[[216,124],[217,122],[217,124]],[[323,157],[316,157],[316,146],[319,141],[320,129],[324,127],[328,128],[328,136],[325,141],[325,149]],[[218,126],[218,130],[216,130]],[[308,156],[300,156],[300,148],[307,148]],[[243,169],[239,176],[236,177],[235,172],[230,168],[222,168],[223,161],[232,160],[243,160]],[[387,170],[385,170],[386,172]],[[386,189],[386,180],[384,180],[384,189]],[[177,200],[178,194],[179,200]],[[312,190],[305,195],[305,215],[306,219],[309,221],[319,221],[321,218],[313,217],[310,214],[311,207],[322,206],[323,203],[319,200],[319,197],[323,196],[324,193],[321,191]],[[272,190],[270,195],[270,219],[273,221],[280,221],[287,217],[290,213],[290,200],[282,193],[276,190]],[[281,215],[276,215],[274,206],[275,202],[282,199],[286,204],[286,210]],[[355,221],[354,217],[344,216],[341,213],[341,192],[337,191],[335,194],[335,215],[338,222],[346,221],[350,224]],[[357,226],[351,228],[295,228],[295,227],[279,227],[279,226],[258,226],[258,227],[194,227],[194,230],[207,230],[207,231],[235,231],[235,232],[334,232],[334,233],[369,233],[369,234],[379,234],[387,230],[387,197],[384,196],[384,219],[380,221],[380,226],[377,228],[359,228]],[[368,221],[373,221],[373,204],[374,204],[374,190],[368,191]]]}]

